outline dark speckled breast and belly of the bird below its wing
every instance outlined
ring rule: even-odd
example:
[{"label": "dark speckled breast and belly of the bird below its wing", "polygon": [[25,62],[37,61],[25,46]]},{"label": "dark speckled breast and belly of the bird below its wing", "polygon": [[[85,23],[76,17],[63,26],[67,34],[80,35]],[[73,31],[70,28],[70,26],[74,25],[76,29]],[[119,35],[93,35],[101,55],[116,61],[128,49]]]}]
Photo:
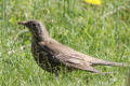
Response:
[{"label": "dark speckled breast and belly of the bird below its wing", "polygon": [[[35,60],[37,63],[46,71],[52,72],[52,73],[57,73],[61,70],[65,71],[72,70],[64,66],[60,60],[55,59],[54,55],[50,53],[51,49],[49,49],[46,46],[40,46],[37,41],[32,40],[31,43],[31,52]],[[61,68],[62,67],[62,68]]]}]

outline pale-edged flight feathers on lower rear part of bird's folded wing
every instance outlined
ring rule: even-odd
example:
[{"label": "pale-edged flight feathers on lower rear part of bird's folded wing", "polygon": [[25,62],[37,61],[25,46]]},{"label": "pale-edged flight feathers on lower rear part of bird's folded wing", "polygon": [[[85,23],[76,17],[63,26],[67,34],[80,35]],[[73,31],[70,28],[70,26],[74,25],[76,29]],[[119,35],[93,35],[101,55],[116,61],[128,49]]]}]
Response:
[{"label": "pale-edged flight feathers on lower rear part of bird's folded wing", "polygon": [[[76,54],[75,54],[76,53]],[[86,70],[94,73],[99,73],[96,69],[91,67],[91,62],[88,60],[84,60],[81,56],[79,56],[77,52],[69,53],[69,54],[58,54],[55,56],[58,60],[61,60],[64,64],[73,68],[78,68],[80,70]]]}]

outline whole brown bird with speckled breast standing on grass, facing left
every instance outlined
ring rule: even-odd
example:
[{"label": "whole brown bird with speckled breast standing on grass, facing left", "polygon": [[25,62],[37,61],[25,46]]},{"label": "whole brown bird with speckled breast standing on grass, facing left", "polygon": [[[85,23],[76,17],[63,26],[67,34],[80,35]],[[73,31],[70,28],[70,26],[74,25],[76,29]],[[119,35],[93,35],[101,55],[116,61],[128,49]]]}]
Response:
[{"label": "whole brown bird with speckled breast standing on grass, facing left", "polygon": [[46,26],[39,20],[18,22],[18,25],[29,29],[32,56],[38,66],[48,72],[58,74],[65,71],[83,70],[99,74],[103,72],[96,70],[94,66],[125,66],[123,62],[106,61],[82,54],[57,42],[49,35]]}]

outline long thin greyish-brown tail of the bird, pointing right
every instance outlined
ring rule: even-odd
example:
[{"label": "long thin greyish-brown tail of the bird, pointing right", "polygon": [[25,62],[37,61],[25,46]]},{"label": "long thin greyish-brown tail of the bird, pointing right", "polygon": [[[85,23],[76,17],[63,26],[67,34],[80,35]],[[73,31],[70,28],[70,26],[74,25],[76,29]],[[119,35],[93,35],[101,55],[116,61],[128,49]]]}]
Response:
[{"label": "long thin greyish-brown tail of the bird, pointing right", "polygon": [[94,66],[103,64],[103,66],[115,66],[115,67],[128,67],[123,62],[113,62],[113,61],[105,61],[105,60],[98,60],[98,61],[94,61],[92,64],[94,64]]}]

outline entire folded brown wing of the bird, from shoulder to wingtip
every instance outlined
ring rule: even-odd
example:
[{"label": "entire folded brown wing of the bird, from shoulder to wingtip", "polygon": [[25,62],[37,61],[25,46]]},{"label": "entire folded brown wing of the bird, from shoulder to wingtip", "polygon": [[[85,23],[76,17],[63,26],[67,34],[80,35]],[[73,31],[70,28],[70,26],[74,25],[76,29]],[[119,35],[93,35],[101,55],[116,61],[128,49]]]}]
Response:
[{"label": "entire folded brown wing of the bird, from shoulder to wingtip", "polygon": [[56,41],[41,42],[40,45],[41,47],[46,46],[46,48],[49,49],[49,53],[53,54],[54,58],[65,66],[99,73],[98,70],[91,67],[91,60],[94,59],[92,57],[87,57],[84,54],[78,53]]}]

